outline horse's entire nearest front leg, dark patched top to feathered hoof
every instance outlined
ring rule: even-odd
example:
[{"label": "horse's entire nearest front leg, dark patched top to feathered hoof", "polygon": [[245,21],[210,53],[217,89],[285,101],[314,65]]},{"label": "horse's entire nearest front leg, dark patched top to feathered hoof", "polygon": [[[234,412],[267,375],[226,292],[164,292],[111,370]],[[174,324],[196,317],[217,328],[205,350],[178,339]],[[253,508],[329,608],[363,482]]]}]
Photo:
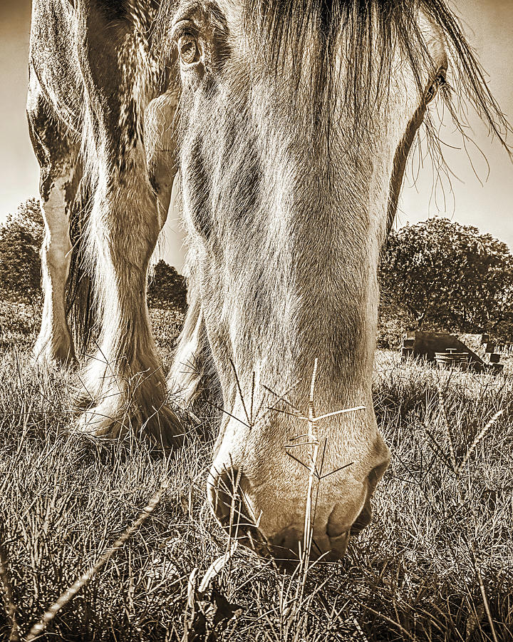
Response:
[{"label": "horse's entire nearest front leg, dark patched top to feathered hoof", "polygon": [[182,427],[167,405],[146,300],[148,265],[166,208],[150,184],[144,144],[150,96],[165,89],[164,76],[160,82],[150,73],[152,64],[162,63],[150,60],[146,41],[152,14],[130,7],[108,21],[100,3],[77,4],[84,150],[94,185],[86,253],[100,314],[81,426],[105,437],[141,434],[172,447]]}]

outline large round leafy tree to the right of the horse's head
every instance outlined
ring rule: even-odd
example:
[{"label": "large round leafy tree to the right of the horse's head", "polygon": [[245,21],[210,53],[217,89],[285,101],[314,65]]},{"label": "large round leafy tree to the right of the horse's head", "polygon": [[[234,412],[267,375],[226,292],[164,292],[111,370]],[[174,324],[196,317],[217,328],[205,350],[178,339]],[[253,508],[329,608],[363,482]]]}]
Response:
[{"label": "large round leafy tree to the right of the horse's head", "polygon": [[403,310],[416,327],[513,330],[504,324],[513,307],[512,254],[477,228],[430,218],[391,233],[379,278],[382,312]]}]

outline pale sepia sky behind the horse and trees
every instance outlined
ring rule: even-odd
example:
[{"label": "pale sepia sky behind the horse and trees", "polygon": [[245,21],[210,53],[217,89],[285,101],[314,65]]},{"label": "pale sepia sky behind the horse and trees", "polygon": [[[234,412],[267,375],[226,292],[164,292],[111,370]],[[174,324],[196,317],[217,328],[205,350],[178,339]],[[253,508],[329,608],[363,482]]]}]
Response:
[{"label": "pale sepia sky behind the horse and trees", "polygon": [[[461,16],[467,37],[488,73],[492,93],[512,122],[513,0],[458,0],[457,6],[450,4]],[[38,194],[38,164],[25,115],[30,12],[30,0],[0,0],[0,223],[21,201]],[[444,215],[463,225],[475,225],[513,249],[513,163],[472,114],[470,125],[476,143],[470,152],[472,163],[452,128],[442,128],[442,139],[457,147],[445,148],[446,161],[455,174],[453,193],[447,185],[444,190],[445,205],[442,191],[433,191],[435,180],[429,163],[418,172],[410,167],[396,227],[429,215]],[[175,210],[170,211],[165,239],[165,259],[180,270],[184,251]]]}]

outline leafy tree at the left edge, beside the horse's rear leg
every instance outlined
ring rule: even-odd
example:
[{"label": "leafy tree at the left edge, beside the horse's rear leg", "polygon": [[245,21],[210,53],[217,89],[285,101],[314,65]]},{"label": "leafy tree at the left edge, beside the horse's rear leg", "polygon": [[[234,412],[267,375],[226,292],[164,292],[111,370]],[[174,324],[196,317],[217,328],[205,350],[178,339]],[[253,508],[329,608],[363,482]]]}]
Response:
[{"label": "leafy tree at the left edge, beside the horse's rear leg", "polygon": [[30,198],[0,226],[0,294],[6,300],[31,300],[41,292],[43,218]]}]

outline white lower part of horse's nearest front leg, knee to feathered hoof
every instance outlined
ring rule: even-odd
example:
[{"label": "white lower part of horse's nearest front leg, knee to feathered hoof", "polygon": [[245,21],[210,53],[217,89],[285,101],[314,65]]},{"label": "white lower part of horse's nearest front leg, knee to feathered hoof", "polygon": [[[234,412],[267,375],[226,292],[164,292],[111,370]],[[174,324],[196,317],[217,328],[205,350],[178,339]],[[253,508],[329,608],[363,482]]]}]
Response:
[{"label": "white lower part of horse's nearest front leg, knee to feathered hoof", "polygon": [[147,310],[147,271],[161,225],[157,196],[139,145],[124,170],[102,169],[88,232],[101,332],[86,372],[91,407],[81,425],[106,437],[141,431],[167,448],[180,442],[182,427],[167,406]]}]

